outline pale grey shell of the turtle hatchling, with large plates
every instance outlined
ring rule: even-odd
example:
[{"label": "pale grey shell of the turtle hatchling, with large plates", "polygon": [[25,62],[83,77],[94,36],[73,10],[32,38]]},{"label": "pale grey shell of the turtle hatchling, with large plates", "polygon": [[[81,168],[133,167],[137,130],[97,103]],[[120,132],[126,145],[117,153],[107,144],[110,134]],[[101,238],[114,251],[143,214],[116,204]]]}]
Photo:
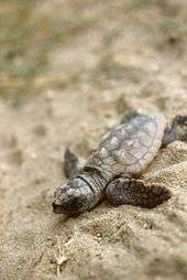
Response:
[{"label": "pale grey shell of the turtle hatchling, with large plates", "polygon": [[166,120],[161,115],[138,115],[120,123],[101,141],[87,166],[108,179],[121,173],[140,174],[161,148]]}]

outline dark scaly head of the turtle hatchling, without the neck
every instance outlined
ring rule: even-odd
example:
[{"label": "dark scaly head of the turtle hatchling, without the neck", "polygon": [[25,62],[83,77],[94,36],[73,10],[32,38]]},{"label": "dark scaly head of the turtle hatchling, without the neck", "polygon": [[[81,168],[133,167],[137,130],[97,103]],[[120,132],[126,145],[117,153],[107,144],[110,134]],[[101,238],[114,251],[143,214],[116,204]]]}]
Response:
[{"label": "dark scaly head of the turtle hatchling, without the neck", "polygon": [[53,212],[76,216],[87,211],[89,201],[84,194],[84,190],[88,190],[88,186],[80,177],[73,179],[67,184],[59,186],[54,193]]}]

